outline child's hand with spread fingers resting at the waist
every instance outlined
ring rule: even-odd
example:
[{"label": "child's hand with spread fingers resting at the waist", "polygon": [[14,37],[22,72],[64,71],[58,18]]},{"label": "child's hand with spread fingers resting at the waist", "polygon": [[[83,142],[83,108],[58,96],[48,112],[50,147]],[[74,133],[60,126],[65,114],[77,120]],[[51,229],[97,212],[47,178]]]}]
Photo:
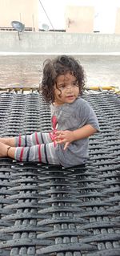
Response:
[{"label": "child's hand with spread fingers resting at the waist", "polygon": [[70,142],[74,141],[74,133],[72,131],[57,131],[55,132],[54,139],[57,141],[58,144],[65,144],[64,150],[68,147]]}]

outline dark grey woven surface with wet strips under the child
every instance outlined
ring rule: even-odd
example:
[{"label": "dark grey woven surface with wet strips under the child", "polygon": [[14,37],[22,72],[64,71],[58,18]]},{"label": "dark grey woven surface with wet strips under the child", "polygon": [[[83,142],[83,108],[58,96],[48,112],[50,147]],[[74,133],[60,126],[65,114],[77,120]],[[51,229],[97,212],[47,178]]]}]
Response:
[{"label": "dark grey woven surface with wet strips under the child", "polygon": [[[120,255],[120,95],[87,93],[101,132],[85,168],[0,158],[0,255]],[[50,131],[38,92],[0,95],[0,136]]]}]

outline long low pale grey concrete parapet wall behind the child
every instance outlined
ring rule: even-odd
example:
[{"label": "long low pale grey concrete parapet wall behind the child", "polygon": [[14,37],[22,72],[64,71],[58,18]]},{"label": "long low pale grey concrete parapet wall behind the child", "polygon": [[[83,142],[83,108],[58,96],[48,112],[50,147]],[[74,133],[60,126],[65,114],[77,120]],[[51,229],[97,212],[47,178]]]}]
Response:
[{"label": "long low pale grey concrete parapet wall behind the child", "polygon": [[1,52],[42,54],[120,53],[120,35],[64,32],[0,32]]}]

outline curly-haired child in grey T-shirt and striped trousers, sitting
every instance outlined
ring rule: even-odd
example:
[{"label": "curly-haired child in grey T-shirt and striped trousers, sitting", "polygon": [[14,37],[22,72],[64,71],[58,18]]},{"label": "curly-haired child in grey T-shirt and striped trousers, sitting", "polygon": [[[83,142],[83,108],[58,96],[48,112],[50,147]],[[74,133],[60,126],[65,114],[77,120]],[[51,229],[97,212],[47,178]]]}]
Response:
[{"label": "curly-haired child in grey T-shirt and striped trousers, sitting", "polygon": [[99,130],[94,110],[79,97],[84,85],[83,68],[73,57],[47,59],[41,89],[44,100],[51,104],[53,130],[1,138],[0,156],[63,167],[84,165],[88,159],[89,136]]}]

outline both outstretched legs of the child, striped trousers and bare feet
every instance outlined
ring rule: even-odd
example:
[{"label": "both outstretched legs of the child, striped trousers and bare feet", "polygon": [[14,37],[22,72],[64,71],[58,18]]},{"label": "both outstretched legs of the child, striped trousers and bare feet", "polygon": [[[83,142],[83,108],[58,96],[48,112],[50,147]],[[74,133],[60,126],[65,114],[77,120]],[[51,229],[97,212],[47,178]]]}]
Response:
[{"label": "both outstretched legs of the child, striped trousers and bare feet", "polygon": [[[23,147],[14,147],[14,144],[16,145],[16,140],[18,144],[23,145]],[[58,157],[55,152],[55,143],[51,142],[52,140],[54,140],[53,132],[35,132],[29,136],[15,137],[15,139],[5,138],[2,140],[4,144],[0,141],[0,156],[7,156],[7,148],[10,145],[11,148],[9,149],[8,156],[18,161],[40,161],[43,163],[59,165]]]}]

